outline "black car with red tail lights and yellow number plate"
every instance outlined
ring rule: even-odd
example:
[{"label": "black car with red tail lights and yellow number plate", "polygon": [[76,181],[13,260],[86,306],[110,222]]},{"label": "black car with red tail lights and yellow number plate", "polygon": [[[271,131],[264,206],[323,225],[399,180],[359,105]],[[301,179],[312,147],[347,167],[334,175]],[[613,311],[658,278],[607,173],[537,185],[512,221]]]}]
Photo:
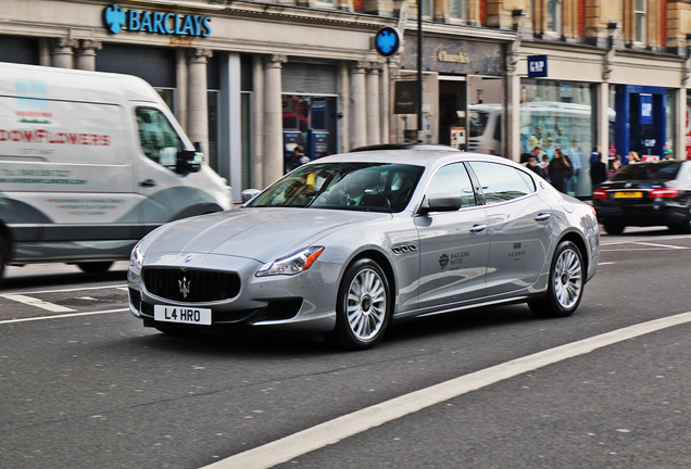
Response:
[{"label": "black car with red tail lights and yellow number plate", "polygon": [[607,233],[627,226],[691,231],[691,161],[635,163],[598,186],[592,202]]}]

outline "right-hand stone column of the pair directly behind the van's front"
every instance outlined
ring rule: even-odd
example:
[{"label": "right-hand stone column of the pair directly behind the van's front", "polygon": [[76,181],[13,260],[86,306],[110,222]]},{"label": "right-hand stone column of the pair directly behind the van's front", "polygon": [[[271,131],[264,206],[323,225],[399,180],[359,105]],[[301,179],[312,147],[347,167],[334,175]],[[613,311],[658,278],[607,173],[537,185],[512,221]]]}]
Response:
[{"label": "right-hand stone column of the pair directly behind the van's front", "polygon": [[192,143],[200,143],[204,155],[209,151],[209,102],[206,98],[206,63],[212,52],[193,49],[188,56],[187,128]]}]

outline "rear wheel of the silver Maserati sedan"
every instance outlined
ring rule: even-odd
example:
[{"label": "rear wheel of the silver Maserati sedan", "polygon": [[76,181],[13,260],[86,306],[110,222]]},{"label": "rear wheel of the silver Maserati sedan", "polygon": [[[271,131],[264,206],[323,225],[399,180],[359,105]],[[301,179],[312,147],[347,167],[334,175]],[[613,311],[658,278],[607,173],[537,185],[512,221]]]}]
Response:
[{"label": "rear wheel of the silver Maserati sedan", "polygon": [[530,310],[541,317],[567,317],[574,314],[586,284],[583,257],[576,244],[562,241],[554,252],[546,296],[529,302]]}]

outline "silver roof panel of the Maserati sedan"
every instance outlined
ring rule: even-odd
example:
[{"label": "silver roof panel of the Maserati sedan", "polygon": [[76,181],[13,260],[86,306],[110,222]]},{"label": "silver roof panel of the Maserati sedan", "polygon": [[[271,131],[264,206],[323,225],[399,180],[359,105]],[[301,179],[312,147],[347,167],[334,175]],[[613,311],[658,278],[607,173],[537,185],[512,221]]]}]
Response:
[{"label": "silver roof panel of the Maserati sedan", "polygon": [[[384,144],[357,148],[349,153],[340,153],[315,160],[312,163],[399,163],[418,166],[435,166],[452,161],[493,161],[506,163],[510,160],[483,153],[470,153],[452,147],[435,144]],[[513,163],[513,162],[512,162]]]}]

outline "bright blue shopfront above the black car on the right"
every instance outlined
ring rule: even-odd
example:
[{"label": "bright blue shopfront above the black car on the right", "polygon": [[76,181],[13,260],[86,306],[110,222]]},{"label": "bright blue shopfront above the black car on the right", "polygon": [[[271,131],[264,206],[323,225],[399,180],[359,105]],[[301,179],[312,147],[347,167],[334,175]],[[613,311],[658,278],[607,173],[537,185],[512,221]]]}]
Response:
[{"label": "bright blue shopfront above the black car on the right", "polygon": [[667,89],[623,85],[616,88],[614,142],[616,153],[663,157],[667,138]]}]

